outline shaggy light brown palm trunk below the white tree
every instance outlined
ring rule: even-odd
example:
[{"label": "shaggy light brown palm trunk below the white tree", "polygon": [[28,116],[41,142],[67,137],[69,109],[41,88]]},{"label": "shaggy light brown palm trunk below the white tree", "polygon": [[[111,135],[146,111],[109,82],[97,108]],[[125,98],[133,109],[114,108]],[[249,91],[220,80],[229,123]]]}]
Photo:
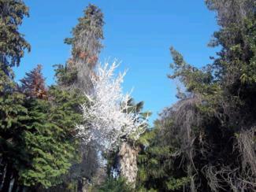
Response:
[{"label": "shaggy light brown palm trunk below the white tree", "polygon": [[118,153],[119,166],[121,176],[127,179],[127,182],[135,186],[136,176],[138,172],[137,168],[137,155],[139,150],[132,146],[128,142],[124,142],[121,145],[121,149]]}]

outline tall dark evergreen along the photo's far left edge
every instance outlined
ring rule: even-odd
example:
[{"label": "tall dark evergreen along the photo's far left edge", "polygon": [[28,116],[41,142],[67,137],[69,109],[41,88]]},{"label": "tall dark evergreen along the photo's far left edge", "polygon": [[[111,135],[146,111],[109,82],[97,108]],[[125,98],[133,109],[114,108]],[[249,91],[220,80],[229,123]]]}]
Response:
[{"label": "tall dark evergreen along the photo's far left edge", "polygon": [[22,156],[16,141],[24,125],[27,109],[23,106],[24,95],[17,91],[11,67],[20,65],[20,58],[30,45],[18,31],[28,7],[23,1],[0,1],[0,190],[8,191],[12,177],[17,181],[17,159]]}]

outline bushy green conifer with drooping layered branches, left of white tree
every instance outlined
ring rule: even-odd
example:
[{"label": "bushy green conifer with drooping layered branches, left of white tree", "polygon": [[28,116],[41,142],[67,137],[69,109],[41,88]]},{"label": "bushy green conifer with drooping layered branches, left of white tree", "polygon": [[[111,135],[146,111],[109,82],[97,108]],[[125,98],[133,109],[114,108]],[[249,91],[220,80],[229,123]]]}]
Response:
[{"label": "bushy green conifer with drooping layered branches, left of white tree", "polygon": [[78,113],[76,93],[50,87],[50,101],[30,98],[26,102],[29,120],[23,132],[27,165],[19,168],[20,181],[25,186],[50,187],[62,183],[61,176],[78,161],[78,141],[74,137]]}]

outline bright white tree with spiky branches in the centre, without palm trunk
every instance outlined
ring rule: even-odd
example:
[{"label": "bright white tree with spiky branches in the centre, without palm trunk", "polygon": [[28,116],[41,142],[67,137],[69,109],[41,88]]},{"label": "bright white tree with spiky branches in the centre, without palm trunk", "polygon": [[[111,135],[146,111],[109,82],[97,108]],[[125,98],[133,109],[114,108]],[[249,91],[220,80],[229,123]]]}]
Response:
[{"label": "bright white tree with spiky branches in the centre, without palm trunk", "polygon": [[98,65],[91,76],[94,92],[86,94],[89,103],[81,105],[85,123],[77,125],[77,136],[85,143],[93,140],[102,150],[111,150],[128,137],[138,139],[147,124],[147,120],[131,110],[131,95],[123,94],[121,87],[126,72],[116,76],[117,67],[116,62]]}]

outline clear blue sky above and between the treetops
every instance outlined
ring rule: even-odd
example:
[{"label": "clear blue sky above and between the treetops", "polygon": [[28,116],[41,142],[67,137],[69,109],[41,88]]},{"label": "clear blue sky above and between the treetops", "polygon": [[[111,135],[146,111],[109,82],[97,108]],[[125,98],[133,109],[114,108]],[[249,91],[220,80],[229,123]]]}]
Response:
[{"label": "clear blue sky above and between the treetops", "polygon": [[77,18],[91,2],[105,15],[105,45],[101,60],[122,61],[121,71],[128,68],[124,91],[134,87],[132,96],[144,101],[153,112],[152,120],[161,110],[176,102],[176,83],[167,78],[172,59],[169,47],[174,46],[195,66],[210,63],[216,50],[207,47],[217,30],[214,13],[203,0],[25,0],[30,17],[20,31],[32,45],[17,68],[17,79],[25,72],[43,65],[46,83],[54,83],[54,64],[64,64],[70,47],[63,39],[70,36]]}]

